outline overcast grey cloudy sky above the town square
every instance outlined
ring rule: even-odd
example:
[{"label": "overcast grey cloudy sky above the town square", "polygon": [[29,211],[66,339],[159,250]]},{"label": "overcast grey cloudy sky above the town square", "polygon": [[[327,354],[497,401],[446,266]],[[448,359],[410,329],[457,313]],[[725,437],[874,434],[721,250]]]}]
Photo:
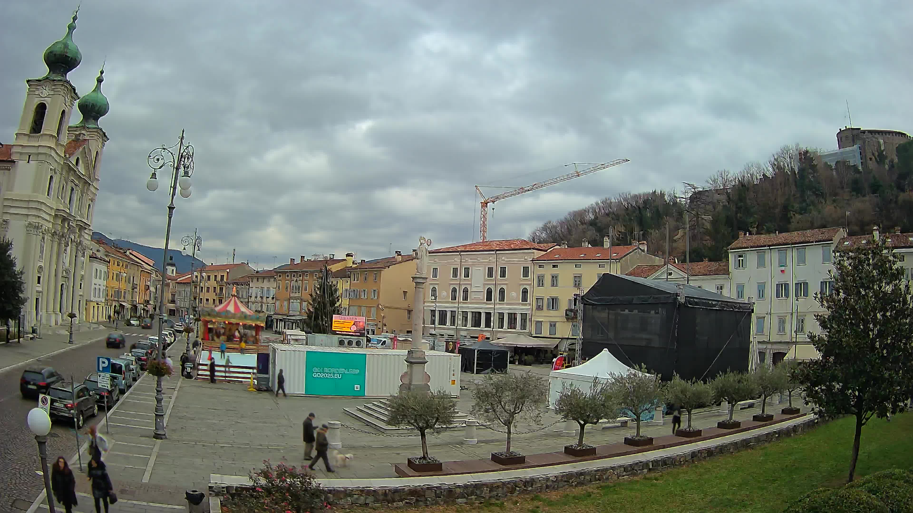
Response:
[{"label": "overcast grey cloudy sky above the town square", "polygon": [[[0,141],[76,5],[5,3]],[[631,160],[499,202],[489,238],[782,144],[834,149],[846,101],[856,126],[913,131],[911,34],[897,1],[84,0],[69,78],[86,94],[107,59],[96,230],[163,244],[146,156],[186,129],[196,172],[173,239],[197,227],[207,262],[236,248],[272,267],[471,242],[474,185],[568,162]]]}]

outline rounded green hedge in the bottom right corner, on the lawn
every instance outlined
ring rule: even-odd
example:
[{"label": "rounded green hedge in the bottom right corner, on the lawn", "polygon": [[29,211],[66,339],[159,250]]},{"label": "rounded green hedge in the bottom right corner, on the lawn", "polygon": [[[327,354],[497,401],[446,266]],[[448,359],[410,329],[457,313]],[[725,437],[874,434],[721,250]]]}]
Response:
[{"label": "rounded green hedge in the bottom right corner, on the lawn", "polygon": [[892,468],[845,487],[818,488],[792,501],[796,513],[913,513],[913,474]]}]

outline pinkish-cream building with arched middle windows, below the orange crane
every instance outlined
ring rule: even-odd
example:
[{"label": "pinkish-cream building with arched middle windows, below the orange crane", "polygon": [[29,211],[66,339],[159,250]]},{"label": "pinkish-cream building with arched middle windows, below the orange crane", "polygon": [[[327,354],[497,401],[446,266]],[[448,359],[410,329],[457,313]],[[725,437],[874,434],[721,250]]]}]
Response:
[{"label": "pinkish-cream building with arched middle windows, below the orange crane", "polygon": [[553,246],[508,239],[431,250],[425,334],[496,340],[529,333],[532,260]]}]

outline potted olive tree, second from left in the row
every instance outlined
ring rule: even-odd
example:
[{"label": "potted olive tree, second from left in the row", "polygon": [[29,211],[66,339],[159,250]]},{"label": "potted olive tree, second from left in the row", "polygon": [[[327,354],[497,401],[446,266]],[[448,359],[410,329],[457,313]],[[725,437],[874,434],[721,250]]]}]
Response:
[{"label": "potted olive tree, second from left in the row", "polygon": [[532,372],[488,374],[482,378],[472,390],[476,402],[472,412],[480,419],[503,425],[508,434],[504,452],[491,453],[491,461],[498,465],[526,462],[526,456],[510,450],[510,434],[520,419],[539,421],[548,393],[548,383]]}]

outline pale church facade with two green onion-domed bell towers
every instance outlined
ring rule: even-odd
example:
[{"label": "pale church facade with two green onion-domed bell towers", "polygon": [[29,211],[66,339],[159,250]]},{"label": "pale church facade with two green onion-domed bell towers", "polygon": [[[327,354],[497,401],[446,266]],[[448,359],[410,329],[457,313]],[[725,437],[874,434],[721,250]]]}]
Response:
[{"label": "pale church facade with two green onion-domed bell towers", "polygon": [[[47,75],[26,80],[26,102],[12,144],[0,145],[0,236],[13,241],[26,283],[25,326],[85,319],[91,300],[91,225],[100,163],[108,136],[99,125],[108,113],[95,89],[79,97],[67,74],[82,55],[73,42],[77,15],[66,36],[47,47]],[[74,108],[75,107],[75,108]],[[79,110],[81,120],[75,120]]]}]

